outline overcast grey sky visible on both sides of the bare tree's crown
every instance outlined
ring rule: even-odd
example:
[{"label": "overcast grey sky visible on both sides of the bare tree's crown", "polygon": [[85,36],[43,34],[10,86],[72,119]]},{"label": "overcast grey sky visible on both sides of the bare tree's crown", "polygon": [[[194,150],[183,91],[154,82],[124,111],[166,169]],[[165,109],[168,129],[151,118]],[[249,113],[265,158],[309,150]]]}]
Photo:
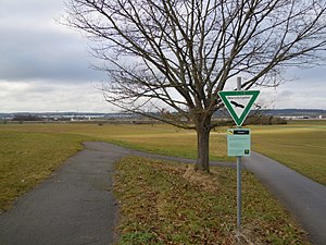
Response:
[{"label": "overcast grey sky visible on both sides of the bare tree's crown", "polygon": [[[88,40],[55,19],[62,0],[0,0],[0,112],[112,112],[95,87]],[[326,109],[326,65],[291,71],[293,82],[262,89],[269,108]]]}]

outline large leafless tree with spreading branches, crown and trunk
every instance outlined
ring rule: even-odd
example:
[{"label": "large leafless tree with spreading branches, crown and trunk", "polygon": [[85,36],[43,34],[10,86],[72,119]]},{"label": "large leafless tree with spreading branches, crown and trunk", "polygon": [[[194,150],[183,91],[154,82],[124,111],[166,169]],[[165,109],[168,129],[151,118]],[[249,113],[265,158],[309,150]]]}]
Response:
[{"label": "large leafless tree with spreading branches, crown and trunk", "polygon": [[[108,102],[198,135],[196,168],[209,171],[217,93],[277,86],[281,70],[318,64],[325,0],[68,0],[67,23],[93,41]],[[166,111],[161,111],[165,105]],[[156,108],[153,113],[152,108]],[[149,112],[150,111],[150,112]],[[192,124],[189,124],[188,121]]]}]

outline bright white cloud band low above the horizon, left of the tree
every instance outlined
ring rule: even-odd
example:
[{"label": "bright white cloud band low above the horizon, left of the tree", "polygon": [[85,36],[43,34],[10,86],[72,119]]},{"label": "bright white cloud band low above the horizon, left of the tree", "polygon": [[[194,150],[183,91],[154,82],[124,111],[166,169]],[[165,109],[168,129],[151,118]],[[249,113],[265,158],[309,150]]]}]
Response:
[{"label": "bright white cloud band low above the horizon, left of the tree", "polygon": [[[1,101],[1,98],[5,98]],[[100,91],[89,84],[0,82],[0,111],[112,111]]]}]

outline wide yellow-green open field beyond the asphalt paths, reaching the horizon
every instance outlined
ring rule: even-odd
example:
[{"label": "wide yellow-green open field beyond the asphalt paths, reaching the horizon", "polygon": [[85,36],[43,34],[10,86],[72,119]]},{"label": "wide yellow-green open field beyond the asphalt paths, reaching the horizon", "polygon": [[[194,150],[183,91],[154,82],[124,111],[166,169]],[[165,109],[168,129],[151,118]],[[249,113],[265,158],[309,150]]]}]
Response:
[{"label": "wide yellow-green open field beyond the asphalt paths, reaching the horizon", "polygon": [[[253,150],[260,151],[326,184],[326,122],[251,126]],[[211,159],[226,157],[226,128],[211,134]],[[1,124],[0,209],[51,174],[83,140],[105,140],[156,154],[196,157],[196,133],[170,125]]]}]

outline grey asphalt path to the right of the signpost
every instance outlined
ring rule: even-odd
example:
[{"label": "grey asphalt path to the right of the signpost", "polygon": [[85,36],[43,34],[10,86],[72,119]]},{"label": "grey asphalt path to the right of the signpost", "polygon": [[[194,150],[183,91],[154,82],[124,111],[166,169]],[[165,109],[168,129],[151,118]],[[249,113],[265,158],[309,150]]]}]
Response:
[{"label": "grey asphalt path to the right of the signpost", "polygon": [[311,242],[326,245],[326,186],[256,152],[242,159],[309,232]]}]

